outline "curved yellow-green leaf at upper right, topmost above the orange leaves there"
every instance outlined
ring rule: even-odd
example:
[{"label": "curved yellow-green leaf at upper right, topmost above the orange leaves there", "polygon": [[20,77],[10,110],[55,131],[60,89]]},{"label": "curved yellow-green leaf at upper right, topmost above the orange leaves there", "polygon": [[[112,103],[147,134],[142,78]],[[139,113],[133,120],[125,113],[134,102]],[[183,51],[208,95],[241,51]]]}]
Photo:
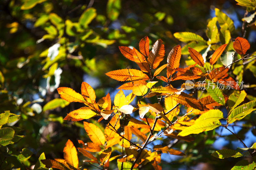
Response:
[{"label": "curved yellow-green leaf at upper right, topmost above the orange leaves there", "polygon": [[221,12],[218,8],[215,8],[215,15],[218,19],[220,26],[227,23],[228,29],[231,33],[233,33],[236,30],[232,19],[230,19],[225,13]]}]

